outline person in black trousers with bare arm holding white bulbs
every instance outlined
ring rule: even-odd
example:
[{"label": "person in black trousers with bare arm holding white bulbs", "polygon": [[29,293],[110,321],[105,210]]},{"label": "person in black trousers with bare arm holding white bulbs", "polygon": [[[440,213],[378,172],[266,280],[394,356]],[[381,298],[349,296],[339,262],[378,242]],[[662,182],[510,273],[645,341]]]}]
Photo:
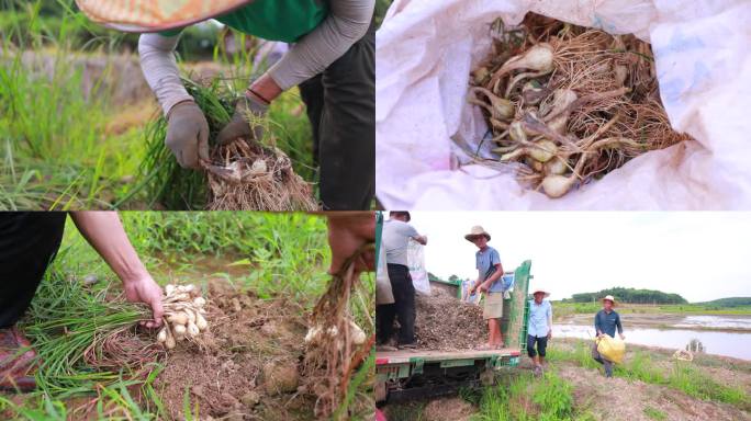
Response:
[{"label": "person in black trousers with bare arm holding white bulbs", "polygon": [[[0,214],[0,390],[36,387],[36,353],[15,327],[63,241],[65,213]],[[161,288],[138,259],[114,212],[74,212],[70,218],[87,241],[123,282],[128,301],[152,307],[154,318],[142,326],[161,325]]]}]

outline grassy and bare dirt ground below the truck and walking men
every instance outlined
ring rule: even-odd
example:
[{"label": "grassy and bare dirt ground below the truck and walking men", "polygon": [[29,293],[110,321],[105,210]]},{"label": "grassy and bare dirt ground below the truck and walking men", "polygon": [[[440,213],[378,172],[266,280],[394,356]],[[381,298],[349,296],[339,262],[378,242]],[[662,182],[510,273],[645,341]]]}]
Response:
[{"label": "grassy and bare dirt ground below the truck and walking men", "polygon": [[[629,346],[615,378],[592,360],[590,342],[556,340],[541,378],[528,359],[497,374],[498,384],[456,398],[386,406],[390,421],[480,420],[746,420],[751,417],[751,363]],[[449,418],[450,417],[450,418]]]}]

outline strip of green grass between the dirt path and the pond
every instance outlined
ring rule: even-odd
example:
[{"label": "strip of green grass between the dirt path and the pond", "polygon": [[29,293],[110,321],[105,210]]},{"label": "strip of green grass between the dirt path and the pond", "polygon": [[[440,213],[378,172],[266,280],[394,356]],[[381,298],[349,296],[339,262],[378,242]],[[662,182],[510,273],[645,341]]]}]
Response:
[{"label": "strip of green grass between the dirt path and the pond", "polygon": [[[599,364],[591,356],[589,341],[575,341],[573,349],[550,346],[548,360],[599,369]],[[665,368],[657,364],[647,352],[637,350],[628,352],[625,363],[615,366],[614,375],[670,387],[697,399],[729,403],[744,411],[751,410],[751,396],[742,387],[720,384],[690,362],[674,361]]]}]

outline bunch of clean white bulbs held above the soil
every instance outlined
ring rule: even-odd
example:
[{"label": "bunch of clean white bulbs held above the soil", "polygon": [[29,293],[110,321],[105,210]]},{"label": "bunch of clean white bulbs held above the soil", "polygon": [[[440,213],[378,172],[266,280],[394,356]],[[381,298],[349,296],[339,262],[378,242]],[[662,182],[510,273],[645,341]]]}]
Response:
[{"label": "bunch of clean white bulbs held above the soil", "polygon": [[165,287],[164,323],[157,334],[157,342],[166,349],[173,349],[180,341],[195,341],[209,322],[203,317],[205,298],[195,285],[167,285]]}]

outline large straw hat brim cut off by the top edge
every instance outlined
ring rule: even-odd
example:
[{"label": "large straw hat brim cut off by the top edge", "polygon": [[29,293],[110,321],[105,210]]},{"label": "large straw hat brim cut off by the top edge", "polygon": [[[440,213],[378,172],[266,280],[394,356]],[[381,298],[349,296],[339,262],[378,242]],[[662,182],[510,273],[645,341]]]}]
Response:
[{"label": "large straw hat brim cut off by the top edge", "polygon": [[123,32],[184,27],[231,12],[254,0],[76,0],[92,21]]}]

